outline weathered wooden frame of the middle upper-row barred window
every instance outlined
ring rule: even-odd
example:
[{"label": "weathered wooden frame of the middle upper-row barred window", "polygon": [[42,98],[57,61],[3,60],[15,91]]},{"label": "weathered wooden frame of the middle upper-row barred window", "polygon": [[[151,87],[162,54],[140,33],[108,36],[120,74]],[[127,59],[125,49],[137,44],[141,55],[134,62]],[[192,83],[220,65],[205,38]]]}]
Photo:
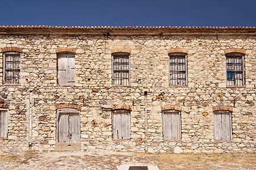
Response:
[{"label": "weathered wooden frame of the middle upper-row barred window", "polygon": [[[128,70],[114,70],[114,58],[115,56],[128,56]],[[130,62],[130,58],[131,58],[131,54],[130,53],[112,53],[112,85],[113,86],[131,86],[131,62]],[[124,72],[128,72],[128,84],[115,84],[116,78],[114,78],[115,73],[120,72],[120,73],[124,73]],[[123,82],[123,79],[120,80],[120,82]]]}]

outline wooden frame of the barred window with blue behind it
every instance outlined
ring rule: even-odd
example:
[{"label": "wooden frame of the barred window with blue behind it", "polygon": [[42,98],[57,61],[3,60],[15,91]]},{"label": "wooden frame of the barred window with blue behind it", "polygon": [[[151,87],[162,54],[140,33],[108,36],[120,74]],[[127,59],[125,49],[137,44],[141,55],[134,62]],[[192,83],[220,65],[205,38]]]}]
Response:
[{"label": "wooden frame of the barred window with blue behind it", "polygon": [[[228,65],[227,65],[227,58],[232,58],[234,60],[235,57],[241,57],[242,60],[242,70],[228,70]],[[225,54],[225,65],[226,65],[226,87],[245,87],[245,55],[241,54],[241,53],[228,53]],[[232,65],[235,65],[235,62],[232,62]],[[235,66],[234,66],[235,69]],[[228,85],[228,72],[232,73],[234,72],[233,76],[234,76],[234,84],[233,85]],[[235,77],[235,73],[242,73],[242,86],[237,86],[236,85],[236,77]]]}]

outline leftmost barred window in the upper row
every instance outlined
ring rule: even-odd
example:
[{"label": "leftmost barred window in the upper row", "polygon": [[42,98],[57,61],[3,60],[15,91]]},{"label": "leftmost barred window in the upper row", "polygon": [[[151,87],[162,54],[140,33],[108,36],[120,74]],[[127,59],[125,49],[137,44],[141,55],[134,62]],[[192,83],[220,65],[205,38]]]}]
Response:
[{"label": "leftmost barred window in the upper row", "polygon": [[20,53],[3,53],[3,83],[20,84]]}]

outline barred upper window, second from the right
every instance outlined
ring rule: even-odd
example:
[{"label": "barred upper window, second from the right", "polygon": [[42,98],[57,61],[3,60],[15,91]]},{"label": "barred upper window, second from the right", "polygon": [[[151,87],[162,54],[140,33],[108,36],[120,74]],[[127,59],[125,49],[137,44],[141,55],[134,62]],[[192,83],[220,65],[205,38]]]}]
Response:
[{"label": "barred upper window, second from the right", "polygon": [[170,86],[187,86],[187,54],[169,54]]}]

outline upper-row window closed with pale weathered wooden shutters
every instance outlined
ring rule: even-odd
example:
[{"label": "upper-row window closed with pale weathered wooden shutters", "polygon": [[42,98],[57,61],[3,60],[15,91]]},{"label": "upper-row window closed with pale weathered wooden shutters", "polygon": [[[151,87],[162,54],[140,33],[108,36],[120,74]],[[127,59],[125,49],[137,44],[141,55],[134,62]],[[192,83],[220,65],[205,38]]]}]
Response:
[{"label": "upper-row window closed with pale weathered wooden shutters", "polygon": [[58,84],[75,85],[75,55],[58,54]]}]

